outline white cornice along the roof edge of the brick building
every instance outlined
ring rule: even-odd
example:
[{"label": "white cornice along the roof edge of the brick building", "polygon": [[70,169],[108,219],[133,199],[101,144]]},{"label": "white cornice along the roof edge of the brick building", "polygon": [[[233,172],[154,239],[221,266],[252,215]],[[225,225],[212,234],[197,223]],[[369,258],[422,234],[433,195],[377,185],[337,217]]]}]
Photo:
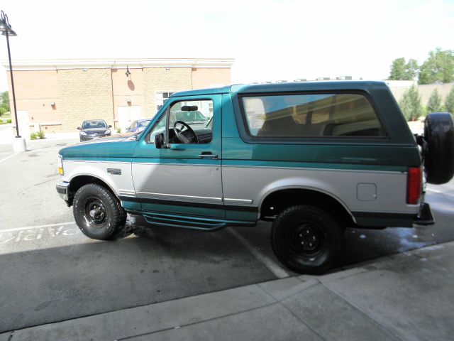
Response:
[{"label": "white cornice along the roof edge of the brick building", "polygon": [[[102,59],[45,59],[12,60],[13,70],[58,70],[58,69],[142,69],[148,67],[200,67],[230,68],[233,58],[102,58]],[[8,60],[0,64],[9,70]]]}]

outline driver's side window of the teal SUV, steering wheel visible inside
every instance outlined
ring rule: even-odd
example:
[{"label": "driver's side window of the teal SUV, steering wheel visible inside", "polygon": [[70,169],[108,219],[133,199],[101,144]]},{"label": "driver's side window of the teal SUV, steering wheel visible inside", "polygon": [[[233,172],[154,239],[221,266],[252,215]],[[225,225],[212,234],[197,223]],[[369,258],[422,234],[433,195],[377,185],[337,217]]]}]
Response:
[{"label": "driver's side window of the teal SUV, steering wheel visible inside", "polygon": [[154,143],[155,135],[165,133],[169,119],[169,144],[208,144],[213,137],[213,101],[175,102],[150,132],[148,141]]}]

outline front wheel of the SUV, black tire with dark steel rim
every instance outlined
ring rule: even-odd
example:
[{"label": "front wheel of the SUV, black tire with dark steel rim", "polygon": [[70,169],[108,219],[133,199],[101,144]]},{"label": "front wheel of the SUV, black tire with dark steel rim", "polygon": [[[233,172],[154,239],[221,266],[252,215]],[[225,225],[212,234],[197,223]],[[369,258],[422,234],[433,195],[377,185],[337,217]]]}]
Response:
[{"label": "front wheel of the SUV, black tire with dark steel rim", "polygon": [[111,239],[126,222],[126,212],[115,195],[96,183],[77,190],[72,213],[79,229],[93,239]]}]

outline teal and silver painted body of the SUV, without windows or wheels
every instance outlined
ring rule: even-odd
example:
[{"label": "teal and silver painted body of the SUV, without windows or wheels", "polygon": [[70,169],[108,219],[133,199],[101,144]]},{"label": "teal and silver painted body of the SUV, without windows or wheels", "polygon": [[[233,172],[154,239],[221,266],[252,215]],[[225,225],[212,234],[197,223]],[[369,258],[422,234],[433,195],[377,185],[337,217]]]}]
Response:
[{"label": "teal and silver painted body of the SUV, without windows or wheels", "polygon": [[[240,97],[306,92],[364,94],[387,137],[248,136]],[[155,148],[149,134],[167,107],[198,99],[213,101],[211,142]],[[407,171],[421,166],[419,150],[382,82],[234,85],[180,92],[167,100],[137,139],[100,139],[63,148],[60,155],[65,175],[59,193],[65,200],[70,202],[74,195],[76,179],[93,177],[111,189],[126,211],[144,215],[152,224],[197,229],[253,225],[267,196],[289,189],[328,195],[354,223],[365,227],[378,226],[377,222],[383,227],[411,226],[420,207],[406,204]],[[117,171],[109,173],[109,169]]]}]

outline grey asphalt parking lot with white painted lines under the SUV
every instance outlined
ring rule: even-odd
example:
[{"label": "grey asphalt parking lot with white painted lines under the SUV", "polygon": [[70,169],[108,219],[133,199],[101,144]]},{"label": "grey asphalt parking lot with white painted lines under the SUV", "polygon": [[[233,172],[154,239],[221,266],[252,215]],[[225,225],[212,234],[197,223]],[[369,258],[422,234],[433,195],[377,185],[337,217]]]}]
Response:
[{"label": "grey asphalt parking lot with white painted lines under the SUV", "polygon": [[[128,217],[114,241],[84,237],[55,192],[57,151],[74,142],[0,145],[0,332],[294,276],[268,223],[195,232]],[[426,201],[436,225],[352,229],[339,268],[454,240],[454,182],[429,186]]]}]

